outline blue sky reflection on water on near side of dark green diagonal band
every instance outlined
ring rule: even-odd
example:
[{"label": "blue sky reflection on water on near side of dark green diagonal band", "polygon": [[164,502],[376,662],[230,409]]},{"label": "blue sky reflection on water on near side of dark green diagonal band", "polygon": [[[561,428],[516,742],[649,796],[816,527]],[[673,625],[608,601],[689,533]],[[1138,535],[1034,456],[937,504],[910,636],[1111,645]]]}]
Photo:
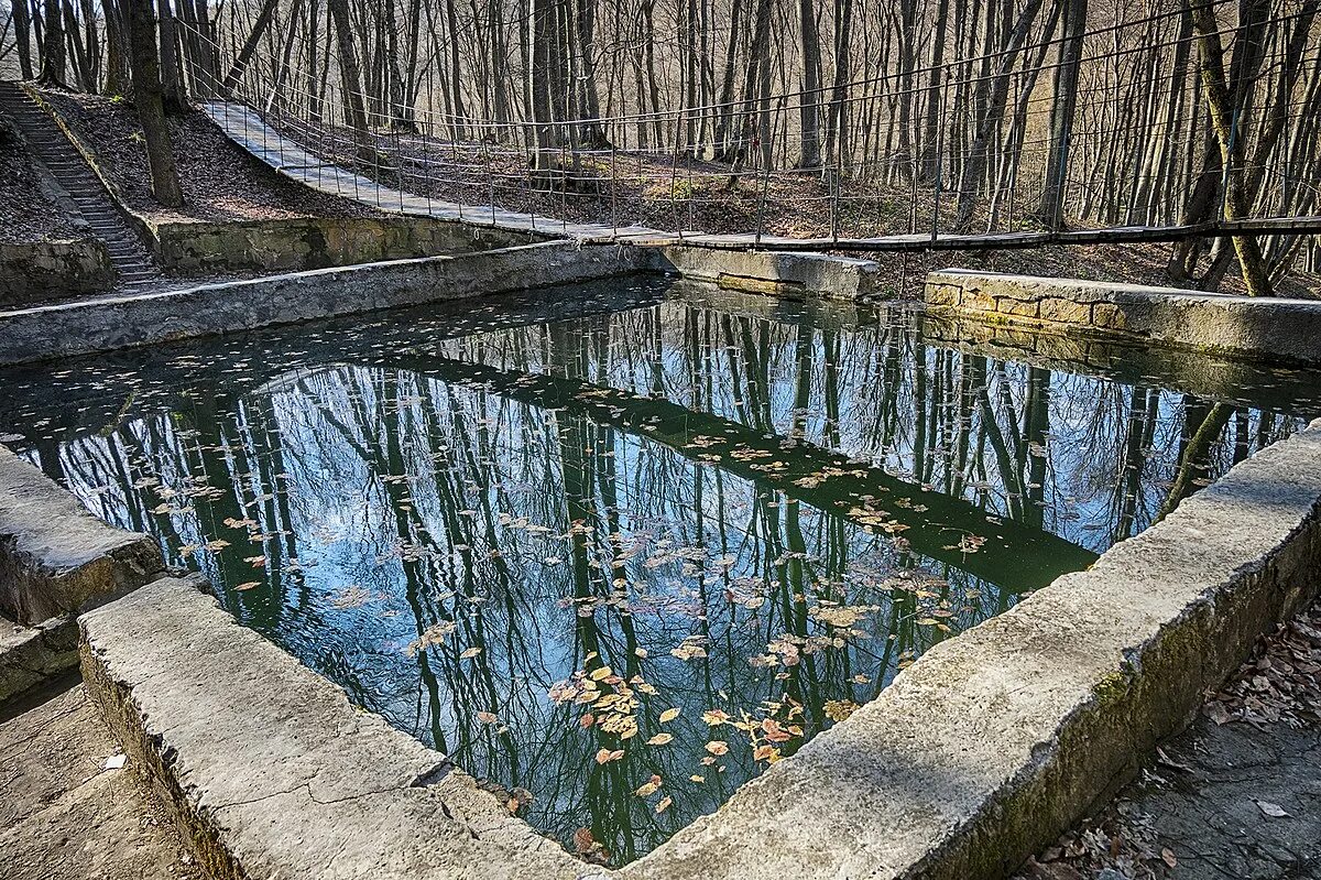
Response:
[{"label": "blue sky reflection on water on near side of dark green diagonal band", "polygon": [[[396,385],[387,392],[386,383]],[[384,427],[387,414],[396,420],[392,428]],[[495,712],[518,753],[536,756],[524,758],[517,778],[538,794],[535,780],[557,776],[536,761],[559,766],[565,748],[577,752],[572,760],[590,760],[573,719],[546,698],[551,684],[584,662],[581,617],[564,601],[584,588],[573,577],[564,538],[573,518],[585,518],[590,529],[588,551],[597,566],[590,618],[598,650],[617,669],[629,666],[634,647],[646,651],[646,659],[633,663],[658,690],[647,700],[651,715],[684,710],[670,729],[682,731],[687,751],[668,751],[671,760],[688,756],[692,765],[680,768],[684,774],[701,769],[696,757],[708,737],[703,711],[756,716],[762,700],[778,699],[781,667],[753,667],[748,658],[766,654],[769,642],[794,629],[778,599],[787,559],[803,560],[804,581],[790,589],[806,591],[808,606],[824,599],[871,609],[851,645],[816,651],[816,678],[828,691],[822,699],[868,699],[893,675],[901,651],[915,653],[938,636],[927,628],[919,643],[889,643],[888,579],[901,568],[911,575],[922,562],[897,554],[886,538],[807,505],[758,498],[745,480],[563,412],[406,373],[332,367],[305,373],[297,383],[267,386],[223,410],[215,425],[223,451],[211,449],[210,458],[201,455],[196,432],[182,436],[176,422],[137,419],[110,437],[75,440],[65,451],[67,464],[77,465],[69,470],[95,474],[95,485],[74,480],[73,488],[100,498],[124,525],[136,525],[125,514],[131,505],[155,507],[161,489],[223,489],[223,505],[174,495],[172,506],[193,513],[155,514],[144,525],[162,536],[174,559],[188,544],[230,542],[196,550],[184,562],[222,588],[240,620],[342,683],[357,702],[435,740],[478,776],[509,780],[507,756],[473,723],[476,711]],[[120,437],[131,437],[140,451],[125,477],[129,485],[145,474],[159,485],[96,494],[92,489],[107,474],[86,465],[114,460]],[[590,460],[594,473],[590,488],[572,495],[573,509],[564,482],[567,457]],[[608,461],[612,480],[600,470]],[[223,511],[213,507],[252,521],[251,531],[264,538],[248,542],[247,529],[217,523]],[[402,507],[411,509],[407,522]],[[203,529],[207,511],[211,527]],[[797,529],[790,530],[790,521]],[[256,567],[248,563],[263,555]],[[614,567],[621,556],[622,566]],[[931,588],[933,599],[922,603],[927,610],[938,606],[938,592],[950,596],[945,622],[952,628],[999,609],[993,589],[926,567],[927,577],[911,583]],[[254,580],[263,583],[239,589]],[[609,581],[617,585],[613,593]],[[614,599],[624,604],[602,601]],[[894,613],[913,629],[915,606]],[[625,617],[633,642],[622,632]],[[453,620],[456,632],[425,653],[427,680],[407,647],[444,620]],[[827,630],[810,620],[806,634],[824,637]],[[694,636],[708,650],[700,666],[670,655]],[[460,658],[477,646],[480,659]],[[478,663],[485,684],[473,675]],[[855,675],[865,677],[864,683],[851,683]],[[559,747],[548,754],[552,743]],[[752,772],[745,758],[741,765],[732,758],[731,768],[731,782]],[[720,801],[701,791],[695,797],[697,811]],[[572,813],[580,798],[572,788],[556,791],[546,795],[543,809]]]}]

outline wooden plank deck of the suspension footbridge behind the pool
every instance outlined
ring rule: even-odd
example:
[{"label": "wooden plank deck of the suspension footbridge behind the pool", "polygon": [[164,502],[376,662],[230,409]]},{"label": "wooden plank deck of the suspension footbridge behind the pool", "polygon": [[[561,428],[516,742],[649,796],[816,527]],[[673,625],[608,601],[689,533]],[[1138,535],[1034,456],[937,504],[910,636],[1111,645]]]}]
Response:
[{"label": "wooden plank deck of the suspension footbridge behind the pool", "polygon": [[584,243],[637,244],[664,247],[684,244],[727,251],[980,251],[1041,247],[1046,244],[1125,244],[1133,242],[1174,242],[1185,238],[1214,238],[1239,233],[1314,234],[1321,233],[1321,217],[1269,217],[1248,221],[1215,221],[1189,226],[1120,226],[1069,231],[976,233],[968,235],[917,233],[878,238],[783,238],[740,233],[667,233],[643,226],[571,223],[552,217],[509,211],[493,205],[460,205],[383,186],[362,174],[325,163],[297,141],[280,135],[247,104],[211,102],[207,115],[239,147],[275,170],[322,193],[351,198],[386,211],[416,217],[458,221],[518,233],[559,235]]}]

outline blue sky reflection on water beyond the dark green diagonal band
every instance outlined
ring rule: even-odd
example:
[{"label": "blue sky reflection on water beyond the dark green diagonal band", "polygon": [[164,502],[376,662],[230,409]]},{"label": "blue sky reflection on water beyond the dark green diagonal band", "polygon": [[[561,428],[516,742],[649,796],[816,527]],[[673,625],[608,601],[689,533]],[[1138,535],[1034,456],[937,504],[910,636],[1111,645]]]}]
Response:
[{"label": "blue sky reflection on water beyond the dark green diagonal band", "polygon": [[[550,346],[548,361],[542,357],[548,346],[539,328],[448,341],[443,350],[452,357],[506,369],[568,370],[600,385],[639,394],[660,390],[667,399],[688,408],[754,427],[765,424],[782,436],[794,433],[797,424],[797,436],[905,478],[913,478],[917,458],[913,416],[923,410],[917,406],[914,387],[917,358],[921,357],[926,365],[926,406],[935,407],[938,416],[937,431],[926,437],[926,456],[939,462],[935,477],[929,477],[935,489],[950,493],[952,488],[952,474],[945,470],[945,462],[956,455],[955,436],[960,419],[967,419],[974,437],[985,436],[982,427],[984,408],[974,402],[964,404],[966,412],[960,410],[964,395],[971,392],[962,385],[966,358],[948,349],[923,345],[910,332],[873,324],[853,329],[812,328],[804,333],[799,325],[756,321],[757,330],[768,332],[765,341],[758,340],[749,346],[737,325],[738,316],[733,317],[733,324],[728,316],[721,316],[725,322],[715,325],[709,316],[711,312],[682,300],[602,316],[583,322],[596,338],[580,344],[580,338],[573,336],[575,348],[568,351]],[[695,324],[709,333],[708,338],[716,340],[716,345],[703,348],[697,370],[701,378],[696,382],[688,338]],[[651,350],[639,350],[634,340],[654,333],[655,326],[660,328],[660,344]],[[804,359],[799,348],[804,345],[811,373],[806,403],[799,406],[799,365]],[[746,357],[749,350],[756,359]],[[948,381],[959,383],[952,388],[938,387],[937,361],[941,358],[946,359]],[[987,398],[996,425],[1001,435],[1021,432],[1030,367],[1013,362],[1000,362],[997,367],[985,373]],[[1132,386],[1092,375],[1061,371],[1049,375],[1049,429],[1044,445],[1046,480],[1040,502],[1044,525],[1049,531],[1099,552],[1114,538]],[[760,385],[766,387],[765,423],[762,414],[750,403]],[[1141,391],[1145,394],[1148,390]],[[1152,443],[1143,455],[1136,530],[1151,522],[1164,499],[1164,489],[1173,480],[1181,449],[1184,395],[1155,387],[1151,392],[1159,396],[1157,419]],[[894,412],[888,423],[886,404]],[[838,414],[838,418],[827,419],[830,412]],[[1260,414],[1248,411],[1252,451],[1259,445],[1259,424]],[[1268,439],[1273,440],[1281,429],[1287,432],[1299,424],[1299,419],[1276,420]],[[978,452],[972,451],[959,494],[991,513],[1008,515],[1011,488],[1005,485],[991,444],[983,440],[980,447],[980,466],[976,464]],[[1229,443],[1221,444],[1210,476],[1223,472],[1229,461]]]}]

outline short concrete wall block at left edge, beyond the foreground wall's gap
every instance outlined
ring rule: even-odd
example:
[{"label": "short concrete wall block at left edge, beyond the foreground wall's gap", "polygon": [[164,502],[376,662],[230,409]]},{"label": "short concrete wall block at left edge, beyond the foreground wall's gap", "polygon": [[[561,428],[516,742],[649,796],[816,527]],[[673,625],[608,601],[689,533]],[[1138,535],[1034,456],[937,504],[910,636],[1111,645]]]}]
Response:
[{"label": "short concrete wall block at left edge, beyond the foreground wall's gap", "polygon": [[152,538],[107,526],[0,447],[0,614],[36,626],[140,587],[164,568]]}]

